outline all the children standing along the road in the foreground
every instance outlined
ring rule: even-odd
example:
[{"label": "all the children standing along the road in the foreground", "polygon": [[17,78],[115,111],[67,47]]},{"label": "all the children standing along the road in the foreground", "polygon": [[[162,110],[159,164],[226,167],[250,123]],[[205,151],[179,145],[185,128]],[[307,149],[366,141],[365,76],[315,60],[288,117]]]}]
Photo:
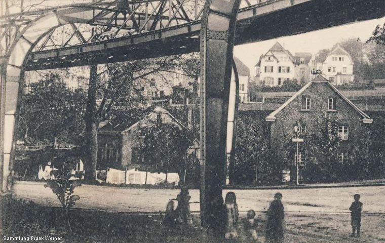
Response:
[{"label": "all the children standing along the road in the foreground", "polygon": [[[188,190],[182,188],[181,193],[177,196],[178,206],[176,210],[173,208],[173,203],[170,201],[166,210],[165,224],[168,226],[173,225],[175,222],[192,224],[191,215],[189,212],[189,199]],[[282,194],[276,193],[274,200],[270,204],[267,210],[267,222],[266,222],[266,242],[283,242],[283,221],[284,221],[284,207],[281,202]],[[221,200],[223,205],[223,199]],[[350,206],[352,217],[352,237],[360,237],[361,228],[361,212],[362,203],[360,201],[360,194],[354,195],[354,202]],[[225,197],[223,205],[223,221],[226,221],[224,236],[228,238],[237,238],[237,225],[239,220],[238,205],[236,195],[234,192],[228,192]],[[243,220],[243,226],[247,236],[253,240],[257,239],[257,219],[255,218],[255,211],[249,210],[246,214],[246,219]],[[357,230],[357,234],[356,234]],[[223,234],[222,234],[223,235]],[[223,237],[223,236],[222,236]]]}]

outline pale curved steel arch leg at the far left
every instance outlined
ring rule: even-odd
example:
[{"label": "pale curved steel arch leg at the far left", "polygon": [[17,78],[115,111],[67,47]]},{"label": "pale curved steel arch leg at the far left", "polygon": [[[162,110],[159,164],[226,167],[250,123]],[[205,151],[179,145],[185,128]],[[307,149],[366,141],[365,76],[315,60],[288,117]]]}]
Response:
[{"label": "pale curved steel arch leg at the far left", "polygon": [[24,66],[34,46],[49,31],[65,24],[88,23],[93,9],[88,6],[63,7],[36,18],[18,33],[7,56],[0,59],[0,188],[6,190],[13,169],[17,117],[24,86]]}]

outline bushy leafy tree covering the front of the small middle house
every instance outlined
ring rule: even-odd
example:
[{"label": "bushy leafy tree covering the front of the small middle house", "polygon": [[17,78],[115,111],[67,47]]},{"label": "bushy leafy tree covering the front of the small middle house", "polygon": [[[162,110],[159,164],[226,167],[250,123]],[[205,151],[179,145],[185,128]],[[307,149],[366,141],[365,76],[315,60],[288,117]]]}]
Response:
[{"label": "bushy leafy tree covering the front of the small middle house", "polygon": [[158,172],[177,172],[180,178],[184,176],[186,150],[190,145],[185,129],[171,123],[164,123],[159,115],[157,121],[145,125],[141,133],[144,137],[143,151],[147,165]]}]

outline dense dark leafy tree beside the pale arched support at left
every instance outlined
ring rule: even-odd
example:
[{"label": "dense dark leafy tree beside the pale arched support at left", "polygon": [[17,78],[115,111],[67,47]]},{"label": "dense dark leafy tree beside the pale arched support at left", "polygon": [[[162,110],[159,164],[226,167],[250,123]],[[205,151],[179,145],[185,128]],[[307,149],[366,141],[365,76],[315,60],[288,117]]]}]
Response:
[{"label": "dense dark leafy tree beside the pale arched support at left", "polygon": [[19,139],[26,143],[82,144],[86,95],[71,91],[55,73],[28,87],[21,103]]}]

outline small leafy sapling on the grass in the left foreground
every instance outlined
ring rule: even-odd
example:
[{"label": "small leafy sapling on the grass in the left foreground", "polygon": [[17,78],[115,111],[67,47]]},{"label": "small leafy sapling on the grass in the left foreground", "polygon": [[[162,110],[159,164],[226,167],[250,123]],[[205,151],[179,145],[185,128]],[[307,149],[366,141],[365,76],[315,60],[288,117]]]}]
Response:
[{"label": "small leafy sapling on the grass in the left foreground", "polygon": [[67,219],[71,232],[72,228],[69,220],[69,210],[75,205],[75,201],[80,199],[79,195],[73,194],[73,189],[76,186],[81,185],[80,180],[76,179],[74,176],[73,165],[62,163],[57,170],[51,172],[51,179],[44,185],[44,187],[51,188],[52,192],[55,193],[59,199],[63,209],[63,215]]}]

